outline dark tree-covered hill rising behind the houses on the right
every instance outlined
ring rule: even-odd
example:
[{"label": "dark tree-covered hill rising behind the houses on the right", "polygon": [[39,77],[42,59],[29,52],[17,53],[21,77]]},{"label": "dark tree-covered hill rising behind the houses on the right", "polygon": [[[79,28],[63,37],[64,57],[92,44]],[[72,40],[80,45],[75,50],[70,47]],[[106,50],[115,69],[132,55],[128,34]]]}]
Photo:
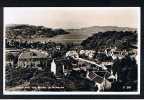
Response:
[{"label": "dark tree-covered hill rising behind the houses on the right", "polygon": [[86,48],[117,47],[119,49],[134,48],[137,44],[136,31],[98,32],[81,43]]}]

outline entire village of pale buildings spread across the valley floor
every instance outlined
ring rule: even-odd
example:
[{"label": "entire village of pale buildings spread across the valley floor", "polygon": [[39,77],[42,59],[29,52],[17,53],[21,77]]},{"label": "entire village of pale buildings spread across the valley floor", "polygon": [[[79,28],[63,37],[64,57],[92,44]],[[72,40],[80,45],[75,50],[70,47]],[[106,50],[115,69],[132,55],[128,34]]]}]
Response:
[{"label": "entire village of pale buildings spread across the valley floor", "polygon": [[[59,49],[59,47],[57,47]],[[109,60],[103,60],[99,62],[98,55],[106,55],[111,57]],[[46,51],[36,49],[25,50],[6,50],[6,66],[12,67],[33,67],[38,70],[42,70],[41,66],[49,66],[49,70],[56,76],[57,79],[61,79],[64,76],[69,75],[71,70],[85,71],[86,79],[95,82],[98,87],[98,91],[104,91],[112,87],[112,83],[118,79],[117,73],[113,74],[112,65],[113,60],[121,59],[127,54],[126,51],[116,51],[116,49],[105,49],[103,52],[96,52],[95,50],[71,50],[66,52],[65,58],[71,58],[75,61],[70,61],[69,64],[72,67],[69,68],[65,62],[51,58],[50,54]],[[16,65],[16,66],[15,66]]]}]

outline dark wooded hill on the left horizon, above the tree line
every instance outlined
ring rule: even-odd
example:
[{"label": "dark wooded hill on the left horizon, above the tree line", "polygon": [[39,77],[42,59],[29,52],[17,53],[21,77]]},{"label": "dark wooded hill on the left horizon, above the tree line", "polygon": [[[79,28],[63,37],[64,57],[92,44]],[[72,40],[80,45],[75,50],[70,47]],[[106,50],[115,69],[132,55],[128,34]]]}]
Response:
[{"label": "dark wooded hill on the left horizon, above the tree line", "polygon": [[54,37],[56,35],[68,34],[63,29],[52,29],[44,26],[34,26],[26,24],[12,24],[6,26],[7,38],[40,38],[40,37]]}]

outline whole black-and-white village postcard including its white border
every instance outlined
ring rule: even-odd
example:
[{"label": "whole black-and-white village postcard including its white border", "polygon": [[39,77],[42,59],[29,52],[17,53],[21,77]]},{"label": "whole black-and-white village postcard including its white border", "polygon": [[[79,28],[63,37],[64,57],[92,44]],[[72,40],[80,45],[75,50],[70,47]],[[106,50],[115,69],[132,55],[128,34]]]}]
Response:
[{"label": "whole black-and-white village postcard including its white border", "polygon": [[140,94],[140,7],[4,7],[4,95]]}]

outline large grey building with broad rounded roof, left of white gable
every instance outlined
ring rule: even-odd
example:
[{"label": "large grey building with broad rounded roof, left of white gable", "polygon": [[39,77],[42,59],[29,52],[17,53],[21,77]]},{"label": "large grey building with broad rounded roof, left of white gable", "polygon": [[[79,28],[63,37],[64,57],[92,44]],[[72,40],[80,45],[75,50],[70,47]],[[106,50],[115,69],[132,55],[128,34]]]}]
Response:
[{"label": "large grey building with broad rounded roof, left of white gable", "polygon": [[18,66],[27,67],[32,66],[36,67],[39,64],[47,65],[48,53],[39,51],[39,50],[24,50],[18,57]]}]

